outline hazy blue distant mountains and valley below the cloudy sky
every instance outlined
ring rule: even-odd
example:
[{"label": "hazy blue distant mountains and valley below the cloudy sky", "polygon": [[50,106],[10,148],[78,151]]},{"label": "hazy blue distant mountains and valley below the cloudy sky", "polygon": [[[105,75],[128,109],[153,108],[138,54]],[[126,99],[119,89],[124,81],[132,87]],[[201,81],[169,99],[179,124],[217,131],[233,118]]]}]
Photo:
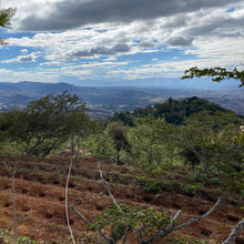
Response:
[{"label": "hazy blue distant mountains and valley below the cloudy sky", "polygon": [[[221,85],[220,85],[221,87]],[[96,119],[111,116],[115,111],[132,111],[148,104],[163,102],[169,98],[182,100],[199,96],[217,103],[223,108],[244,115],[244,91],[240,90],[192,90],[133,87],[77,87],[61,83],[42,83],[22,81],[18,83],[0,82],[0,111],[13,106],[26,106],[31,100],[49,93],[61,93],[68,90],[87,102],[90,115]]]}]

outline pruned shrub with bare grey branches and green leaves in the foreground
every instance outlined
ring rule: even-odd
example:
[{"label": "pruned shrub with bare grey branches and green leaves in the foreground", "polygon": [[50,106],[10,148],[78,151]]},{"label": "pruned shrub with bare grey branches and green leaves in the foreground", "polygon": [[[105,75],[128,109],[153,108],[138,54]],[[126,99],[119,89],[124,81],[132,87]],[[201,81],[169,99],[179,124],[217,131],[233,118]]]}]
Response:
[{"label": "pruned shrub with bare grey branches and green leaves in the foreground", "polygon": [[[103,211],[101,216],[96,218],[95,223],[91,223],[85,216],[83,216],[77,209],[77,205],[81,204],[81,197],[71,205],[71,209],[80,218],[82,218],[90,230],[98,231],[98,233],[104,238],[108,244],[116,244],[120,240],[125,244],[130,233],[136,234],[136,240],[140,244],[153,244],[167,236],[172,232],[194,224],[212,214],[217,206],[222,204],[222,199],[203,215],[192,218],[185,223],[179,224],[177,218],[181,215],[181,211],[177,211],[173,217],[167,216],[164,212],[149,207],[142,210],[138,206],[129,206],[126,204],[118,204],[110,187],[102,175],[100,163],[98,164],[100,177],[106,189],[113,205],[112,209]],[[69,177],[68,177],[69,179]],[[110,234],[105,232],[110,228]],[[240,227],[238,227],[240,228]],[[243,226],[241,225],[241,228]],[[144,233],[153,233],[148,240],[143,236]]]}]

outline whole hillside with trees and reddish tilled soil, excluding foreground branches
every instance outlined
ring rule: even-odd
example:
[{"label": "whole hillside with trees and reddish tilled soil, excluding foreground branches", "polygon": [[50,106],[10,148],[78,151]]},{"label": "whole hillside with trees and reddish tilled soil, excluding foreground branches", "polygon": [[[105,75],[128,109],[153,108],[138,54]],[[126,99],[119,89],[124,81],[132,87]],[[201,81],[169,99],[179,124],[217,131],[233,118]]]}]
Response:
[{"label": "whole hillside with trees and reddish tilled soil, excluding foreground branches", "polygon": [[[169,99],[124,112],[132,116],[129,119],[134,126],[112,122],[103,128],[102,123],[90,120],[81,106],[79,98],[63,93],[32,102],[24,110],[1,114],[0,228],[13,234],[11,172],[16,171],[19,235],[28,235],[40,244],[71,243],[64,195],[71,159],[69,204],[81,196],[77,209],[90,222],[110,210],[112,203],[98,171],[101,162],[103,175],[118,202],[141,207],[140,213],[136,209],[136,217],[144,216],[142,211],[156,210],[159,214],[165,212],[166,216],[174,216],[181,210],[177,220],[181,224],[203,215],[224,197],[223,205],[210,217],[172,233],[159,241],[160,244],[206,244],[194,240],[218,243],[243,218],[242,115],[193,96]],[[139,116],[135,121],[134,115]],[[71,210],[69,213],[79,243],[103,243],[91,226],[89,228]],[[115,214],[123,223],[124,218],[131,223],[130,216]],[[133,220],[132,223],[141,225],[144,221]],[[151,212],[146,221],[156,223],[151,230],[148,226],[143,230],[146,238],[155,227],[173,223],[164,215],[163,223],[157,225],[155,212]],[[108,224],[103,231],[110,234],[111,221],[106,221]],[[133,228],[126,226],[123,230]],[[0,236],[0,243],[1,240]],[[135,240],[132,233],[126,243],[134,244]],[[244,235],[241,235],[236,244],[243,242]]]}]

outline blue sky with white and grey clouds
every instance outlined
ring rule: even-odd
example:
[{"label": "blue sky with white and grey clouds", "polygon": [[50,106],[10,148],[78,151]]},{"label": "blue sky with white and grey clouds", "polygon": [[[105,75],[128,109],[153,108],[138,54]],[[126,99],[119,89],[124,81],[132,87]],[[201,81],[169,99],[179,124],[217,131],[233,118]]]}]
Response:
[{"label": "blue sky with white and grey clouds", "polygon": [[189,68],[243,70],[243,0],[1,0],[9,7],[0,82],[194,87],[180,81]]}]

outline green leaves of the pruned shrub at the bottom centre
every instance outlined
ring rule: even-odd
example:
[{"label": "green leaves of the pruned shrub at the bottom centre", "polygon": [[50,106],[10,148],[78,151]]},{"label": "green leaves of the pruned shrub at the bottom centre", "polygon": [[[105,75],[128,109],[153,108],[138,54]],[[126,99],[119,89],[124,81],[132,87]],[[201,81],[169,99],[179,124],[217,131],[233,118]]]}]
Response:
[{"label": "green leaves of the pruned shrub at the bottom centre", "polygon": [[96,222],[89,225],[89,228],[103,230],[109,226],[111,228],[110,237],[119,241],[142,223],[144,223],[146,233],[151,233],[155,228],[160,230],[169,225],[172,221],[172,217],[164,212],[159,212],[153,207],[142,210],[139,206],[129,206],[126,204],[121,204],[120,207],[121,211],[115,205],[112,205],[111,209],[103,211]]}]

